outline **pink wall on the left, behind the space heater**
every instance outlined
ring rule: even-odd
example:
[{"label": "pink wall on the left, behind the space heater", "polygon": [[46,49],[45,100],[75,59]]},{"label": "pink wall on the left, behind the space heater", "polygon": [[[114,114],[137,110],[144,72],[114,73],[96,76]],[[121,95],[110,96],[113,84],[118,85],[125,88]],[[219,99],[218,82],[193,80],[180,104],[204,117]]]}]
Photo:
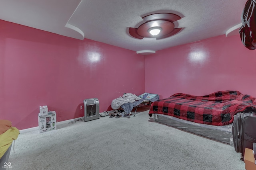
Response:
[{"label": "pink wall on the left, behind the space heater", "polygon": [[84,116],[86,98],[110,110],[123,93],[144,93],[144,77],[144,56],[134,51],[0,20],[0,119],[19,130],[38,126],[43,105],[57,121]]}]

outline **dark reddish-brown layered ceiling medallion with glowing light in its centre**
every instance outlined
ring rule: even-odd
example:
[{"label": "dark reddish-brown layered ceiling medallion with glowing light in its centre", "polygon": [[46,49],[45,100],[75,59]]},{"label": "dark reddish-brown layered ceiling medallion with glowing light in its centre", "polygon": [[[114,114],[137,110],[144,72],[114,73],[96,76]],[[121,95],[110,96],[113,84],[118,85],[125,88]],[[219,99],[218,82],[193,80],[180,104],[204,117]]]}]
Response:
[{"label": "dark reddish-brown layered ceiling medallion with glowing light in its centre", "polygon": [[[143,39],[144,37],[163,39],[178,33],[182,28],[174,28],[174,21],[181,17],[171,13],[151,14],[142,18],[142,23],[138,28],[129,27],[129,33],[134,38]],[[151,32],[153,31],[153,32]],[[157,31],[154,33],[154,31]]]}]

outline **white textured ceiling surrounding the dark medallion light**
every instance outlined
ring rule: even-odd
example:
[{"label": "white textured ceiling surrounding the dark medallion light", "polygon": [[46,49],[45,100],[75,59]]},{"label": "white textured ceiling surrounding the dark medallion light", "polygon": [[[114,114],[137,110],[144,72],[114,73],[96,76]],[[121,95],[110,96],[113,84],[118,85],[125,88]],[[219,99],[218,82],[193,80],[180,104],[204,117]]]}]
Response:
[{"label": "white textured ceiling surrounding the dark medallion light", "polygon": [[[0,20],[44,31],[92,39],[132,51],[158,51],[176,45],[224,35],[241,23],[247,0],[0,0]],[[182,19],[182,30],[168,38],[135,39],[142,17],[160,12]],[[232,31],[232,30],[231,30]]]}]

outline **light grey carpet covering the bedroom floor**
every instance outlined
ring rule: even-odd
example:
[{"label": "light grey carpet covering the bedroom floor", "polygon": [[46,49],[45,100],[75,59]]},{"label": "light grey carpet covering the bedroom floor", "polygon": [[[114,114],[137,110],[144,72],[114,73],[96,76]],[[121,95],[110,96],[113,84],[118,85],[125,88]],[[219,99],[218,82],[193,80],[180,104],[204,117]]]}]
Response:
[{"label": "light grey carpet covering the bedroom floor", "polygon": [[244,170],[230,145],[153,122],[143,108],[22,133],[15,146],[12,170]]}]

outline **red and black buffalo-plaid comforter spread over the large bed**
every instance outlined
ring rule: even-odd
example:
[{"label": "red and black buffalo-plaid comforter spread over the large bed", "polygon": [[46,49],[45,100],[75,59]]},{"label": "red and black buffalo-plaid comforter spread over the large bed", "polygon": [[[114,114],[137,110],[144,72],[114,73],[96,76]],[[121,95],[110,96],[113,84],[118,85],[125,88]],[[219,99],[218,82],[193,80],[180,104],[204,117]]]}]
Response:
[{"label": "red and black buffalo-plaid comforter spread over the large bed", "polygon": [[[246,108],[256,111],[256,98],[238,91],[219,91],[207,96],[176,93],[170,98],[153,102],[149,115],[170,115],[180,119],[208,125],[228,125],[236,113]],[[247,109],[248,110],[248,109]]]}]

